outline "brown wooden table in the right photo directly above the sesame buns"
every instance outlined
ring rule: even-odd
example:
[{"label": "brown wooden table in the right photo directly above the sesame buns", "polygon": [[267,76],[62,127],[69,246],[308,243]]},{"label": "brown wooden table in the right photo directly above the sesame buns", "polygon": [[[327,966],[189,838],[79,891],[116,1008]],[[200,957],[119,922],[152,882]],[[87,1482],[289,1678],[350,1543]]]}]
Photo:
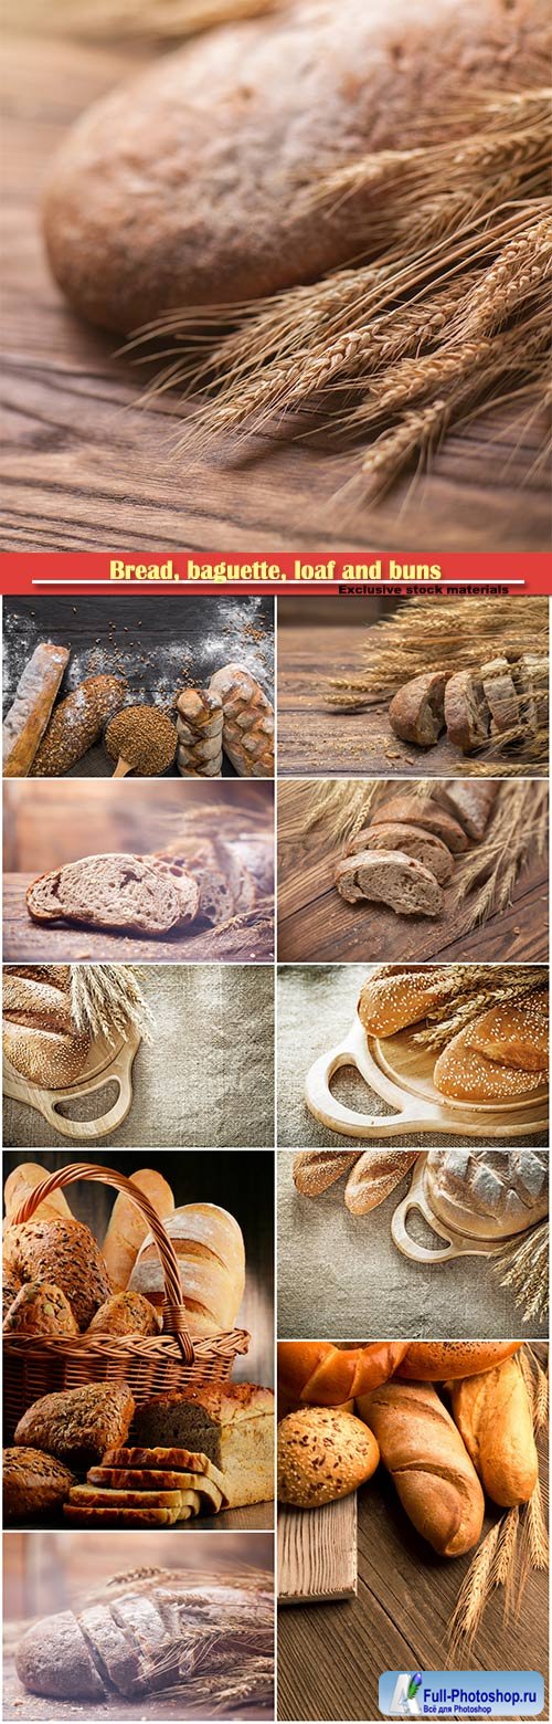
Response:
[{"label": "brown wooden table in the right photo directly above the sesame buns", "polygon": [[[444,888],[439,917],[396,915],[380,903],[346,903],[334,886],[342,853],[330,831],[297,838],[303,784],[285,784],[279,798],[279,960],[296,964],[540,962],[549,959],[547,857],[530,860],[506,910],[468,931],[469,898],[452,909]],[[287,838],[287,826],[294,838]],[[330,826],[330,822],[328,822]],[[454,874],[452,874],[454,883]]]}]

